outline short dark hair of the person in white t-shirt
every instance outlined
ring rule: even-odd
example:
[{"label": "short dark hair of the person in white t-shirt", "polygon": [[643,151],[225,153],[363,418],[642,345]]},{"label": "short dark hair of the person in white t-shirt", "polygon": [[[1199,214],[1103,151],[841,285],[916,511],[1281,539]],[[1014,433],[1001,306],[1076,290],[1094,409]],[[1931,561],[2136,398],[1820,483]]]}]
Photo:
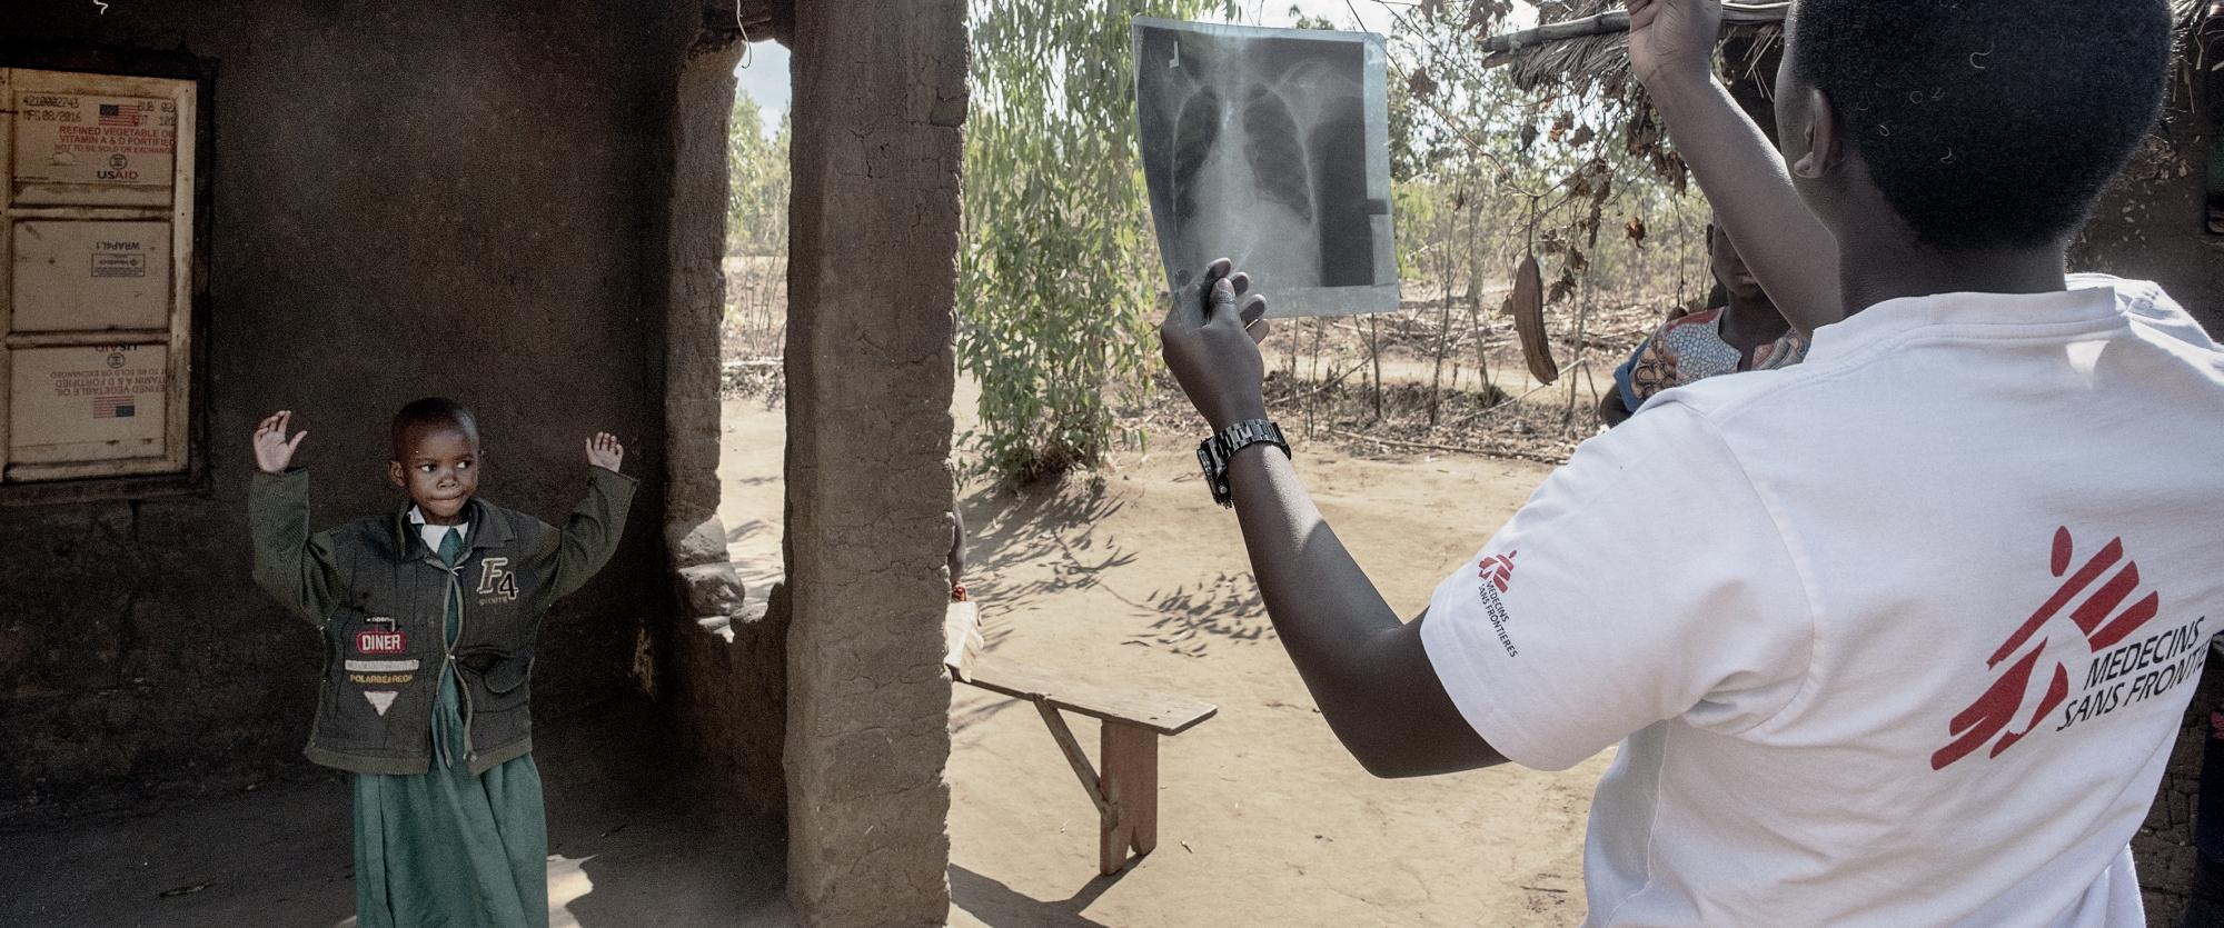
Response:
[{"label": "short dark hair of the person in white t-shirt", "polygon": [[1797,75],[1942,251],[2059,242],[2162,109],[2168,0],[1799,0]]}]

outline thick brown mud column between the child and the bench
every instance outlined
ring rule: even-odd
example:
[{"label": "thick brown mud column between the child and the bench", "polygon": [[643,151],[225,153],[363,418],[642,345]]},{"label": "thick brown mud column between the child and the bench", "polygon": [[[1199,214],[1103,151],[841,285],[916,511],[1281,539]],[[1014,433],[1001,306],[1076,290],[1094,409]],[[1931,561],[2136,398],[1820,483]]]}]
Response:
[{"label": "thick brown mud column between the child and the bench", "polygon": [[963,0],[796,4],[787,329],[787,895],[947,919],[950,393]]}]

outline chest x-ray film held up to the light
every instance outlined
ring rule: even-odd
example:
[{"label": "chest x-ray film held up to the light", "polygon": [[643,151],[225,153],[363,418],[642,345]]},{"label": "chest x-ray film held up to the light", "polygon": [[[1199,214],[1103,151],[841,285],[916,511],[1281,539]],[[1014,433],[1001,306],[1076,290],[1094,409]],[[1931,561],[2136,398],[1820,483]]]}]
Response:
[{"label": "chest x-ray film held up to the light", "polygon": [[1268,315],[1399,306],[1381,36],[1134,20],[1168,286],[1232,258]]}]

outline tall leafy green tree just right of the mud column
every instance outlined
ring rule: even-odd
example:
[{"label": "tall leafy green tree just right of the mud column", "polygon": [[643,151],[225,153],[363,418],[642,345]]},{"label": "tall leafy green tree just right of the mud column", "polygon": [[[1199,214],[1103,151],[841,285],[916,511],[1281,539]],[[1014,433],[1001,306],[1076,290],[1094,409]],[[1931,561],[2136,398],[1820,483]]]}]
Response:
[{"label": "tall leafy green tree just right of the mud column", "polygon": [[1134,144],[1134,16],[1210,0],[974,0],[959,364],[981,380],[983,466],[1094,464],[1116,397],[1156,364],[1156,246]]}]

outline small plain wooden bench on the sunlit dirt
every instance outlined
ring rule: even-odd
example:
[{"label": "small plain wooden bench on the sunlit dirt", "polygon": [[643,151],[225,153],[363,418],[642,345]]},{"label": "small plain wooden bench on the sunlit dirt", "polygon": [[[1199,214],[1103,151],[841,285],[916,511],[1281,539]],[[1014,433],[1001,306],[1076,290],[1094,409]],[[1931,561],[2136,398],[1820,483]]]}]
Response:
[{"label": "small plain wooden bench on the sunlit dirt", "polygon": [[[1219,706],[1179,695],[1101,686],[1005,662],[979,653],[972,604],[952,604],[950,677],[1034,704],[1050,726],[1050,737],[1065,753],[1081,788],[1096,806],[1096,870],[1114,875],[1128,866],[1128,848],[1136,857],[1159,846],[1159,739],[1197,728]],[[963,615],[959,615],[963,613]],[[1101,722],[1096,759],[1090,766],[1081,739],[1065,726],[1065,715],[1088,715]]]}]

